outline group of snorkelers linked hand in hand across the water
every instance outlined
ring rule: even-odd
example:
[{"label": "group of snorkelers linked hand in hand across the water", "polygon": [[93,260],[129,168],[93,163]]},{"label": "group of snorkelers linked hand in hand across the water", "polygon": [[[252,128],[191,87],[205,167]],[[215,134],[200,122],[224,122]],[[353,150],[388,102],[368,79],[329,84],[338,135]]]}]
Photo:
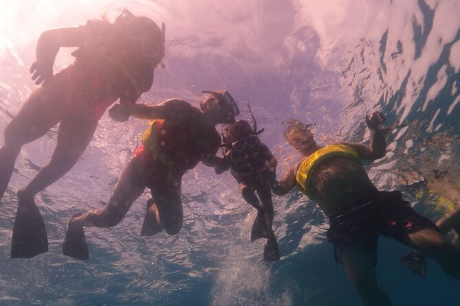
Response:
[{"label": "group of snorkelers linked hand in hand across the water", "polygon": [[[289,120],[284,137],[302,161],[276,180],[277,161],[259,139],[262,130],[247,120],[236,120],[239,107],[226,90],[203,91],[199,108],[184,99],[146,105],[136,103],[151,89],[155,68],[162,67],[165,27],[145,16],[123,10],[113,23],[87,21],[80,27],[48,30],[41,34],[32,64],[38,86],[5,129],[0,148],[0,198],[8,187],[22,145],[42,137],[59,123],[57,145],[50,163],[18,191],[18,209],[12,234],[11,257],[30,258],[47,252],[45,224],[35,204],[37,193],[52,185],[76,164],[91,140],[98,120],[111,104],[109,116],[151,120],[122,170],[102,209],[76,213],[69,221],[63,253],[89,259],[84,227],[116,226],[131,204],[151,190],[142,224],[142,236],[161,231],[176,235],[182,228],[182,176],[200,161],[217,174],[230,169],[241,196],[257,210],[251,240],[265,238],[265,261],[280,259],[272,228],[272,192],[278,196],[298,187],[327,215],[327,239],[364,305],[390,305],[377,285],[377,239],[380,235],[415,249],[410,262],[417,266],[426,255],[455,279],[460,279],[460,248],[441,235],[460,231],[460,213],[438,226],[413,211],[399,191],[379,191],[361,163],[386,153],[384,115],[366,116],[369,145],[341,142],[324,147],[314,140],[311,127]],[[61,47],[78,47],[74,63],[54,74]],[[221,135],[219,123],[228,124]],[[218,156],[219,148],[224,149]],[[441,233],[439,229],[443,228]],[[417,270],[417,268],[414,268]]]}]

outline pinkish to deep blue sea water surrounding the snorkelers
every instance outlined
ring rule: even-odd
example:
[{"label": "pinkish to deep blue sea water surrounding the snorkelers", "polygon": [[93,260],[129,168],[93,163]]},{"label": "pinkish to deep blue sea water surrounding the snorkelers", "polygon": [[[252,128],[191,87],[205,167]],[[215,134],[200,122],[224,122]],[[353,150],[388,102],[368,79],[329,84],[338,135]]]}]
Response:
[{"label": "pinkish to deep blue sea water surrounding the snorkelers", "polygon": [[[127,7],[166,23],[166,68],[141,102],[197,104],[201,90],[228,89],[240,117],[248,119],[249,101],[265,128],[278,177],[298,158],[283,142],[283,120],[314,123],[324,143],[365,141],[364,115],[380,109],[393,130],[386,157],[367,167],[377,187],[402,190],[433,220],[457,204],[448,195],[460,189],[460,1],[10,2],[0,2],[0,143],[34,89],[28,68],[39,34],[102,11],[113,20]],[[61,51],[56,70],[70,51]],[[10,259],[16,192],[49,160],[56,128],[24,146],[0,202],[0,305],[360,305],[314,202],[296,192],[274,197],[281,260],[267,264],[262,242],[250,242],[255,213],[237,183],[201,165],[184,177],[179,235],[139,236],[145,193],[118,226],[87,229],[89,261],[64,257],[69,217],[102,207],[146,124],[104,115],[78,164],[36,197],[50,251]],[[435,173],[446,170],[436,185]],[[422,176],[433,180],[429,188],[416,186]],[[460,305],[460,283],[435,262],[420,279],[399,263],[406,246],[382,238],[378,251],[378,279],[394,305]]]}]

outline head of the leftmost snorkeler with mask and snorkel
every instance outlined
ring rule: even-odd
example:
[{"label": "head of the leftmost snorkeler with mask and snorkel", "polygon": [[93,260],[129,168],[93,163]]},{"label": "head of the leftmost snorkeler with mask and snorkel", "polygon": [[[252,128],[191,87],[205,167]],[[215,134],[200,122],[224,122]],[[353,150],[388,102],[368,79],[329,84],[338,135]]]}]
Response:
[{"label": "head of the leftmost snorkeler with mask and snorkel", "polygon": [[122,9],[114,24],[124,28],[129,37],[138,40],[140,51],[152,67],[164,67],[164,40],[166,25],[162,23],[162,29],[146,16],[134,16],[127,9]]}]

